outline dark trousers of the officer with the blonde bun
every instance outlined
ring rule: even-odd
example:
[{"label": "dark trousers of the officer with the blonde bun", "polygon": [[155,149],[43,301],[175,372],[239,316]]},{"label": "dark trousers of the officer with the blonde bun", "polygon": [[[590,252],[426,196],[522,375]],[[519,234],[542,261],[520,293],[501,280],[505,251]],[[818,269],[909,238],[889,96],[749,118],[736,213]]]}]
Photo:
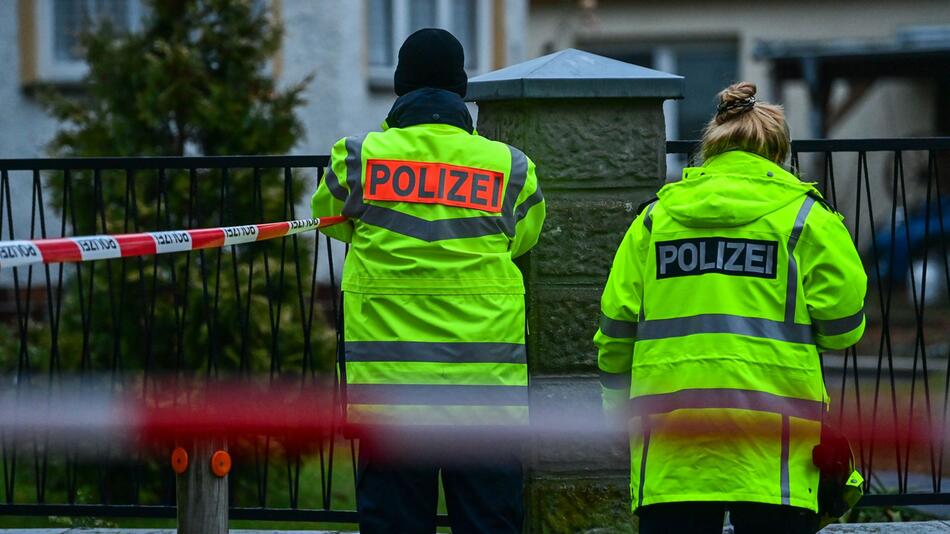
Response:
[{"label": "dark trousers of the officer with the blonde bun", "polygon": [[722,534],[726,510],[735,534],[818,532],[818,514],[804,508],[747,502],[678,502],[640,508],[640,534]]}]

